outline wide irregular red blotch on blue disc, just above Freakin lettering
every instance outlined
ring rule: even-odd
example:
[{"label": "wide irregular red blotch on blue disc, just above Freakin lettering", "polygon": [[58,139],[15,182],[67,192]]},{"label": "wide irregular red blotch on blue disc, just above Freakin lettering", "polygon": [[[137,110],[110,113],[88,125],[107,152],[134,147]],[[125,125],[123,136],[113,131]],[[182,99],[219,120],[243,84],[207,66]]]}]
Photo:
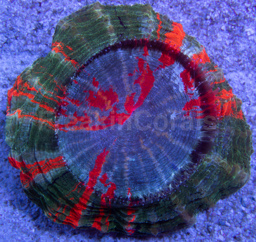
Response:
[{"label": "wide irregular red blotch on blue disc, just above Freakin lettering", "polygon": [[109,90],[103,91],[102,89],[98,90],[97,93],[94,91],[83,91],[89,93],[86,101],[88,101],[89,106],[98,107],[102,111],[108,111],[112,108],[112,105],[116,102],[119,102],[118,95],[113,91],[113,88],[110,87]]}]

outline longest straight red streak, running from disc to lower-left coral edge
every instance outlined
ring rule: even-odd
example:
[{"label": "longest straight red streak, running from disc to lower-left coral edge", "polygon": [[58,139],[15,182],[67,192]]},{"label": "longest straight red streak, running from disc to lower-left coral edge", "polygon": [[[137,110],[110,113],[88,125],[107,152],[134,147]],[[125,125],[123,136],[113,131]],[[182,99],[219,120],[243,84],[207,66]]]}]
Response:
[{"label": "longest straight red streak, running from disc to lower-left coral edge", "polygon": [[109,151],[105,149],[106,148],[104,148],[104,150],[97,156],[94,168],[89,172],[89,181],[86,185],[86,189],[84,190],[78,203],[76,203],[74,207],[71,208],[70,214],[66,216],[63,224],[71,224],[71,226],[74,228],[78,226],[82,210],[87,209],[87,203],[94,191],[94,186],[96,185],[97,179],[101,173],[102,165],[105,163],[105,158],[109,153]]}]

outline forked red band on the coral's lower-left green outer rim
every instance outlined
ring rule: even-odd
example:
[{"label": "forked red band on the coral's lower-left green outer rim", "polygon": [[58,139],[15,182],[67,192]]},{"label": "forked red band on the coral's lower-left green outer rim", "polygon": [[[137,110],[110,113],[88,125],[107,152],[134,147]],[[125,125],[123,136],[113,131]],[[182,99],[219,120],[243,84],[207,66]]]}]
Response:
[{"label": "forked red band on the coral's lower-left green outer rim", "polygon": [[46,174],[50,170],[66,166],[62,156],[34,162],[33,164],[26,164],[24,161],[19,162],[12,157],[8,157],[8,160],[14,168],[20,169],[20,180],[25,188],[29,187],[36,175],[41,173]]}]

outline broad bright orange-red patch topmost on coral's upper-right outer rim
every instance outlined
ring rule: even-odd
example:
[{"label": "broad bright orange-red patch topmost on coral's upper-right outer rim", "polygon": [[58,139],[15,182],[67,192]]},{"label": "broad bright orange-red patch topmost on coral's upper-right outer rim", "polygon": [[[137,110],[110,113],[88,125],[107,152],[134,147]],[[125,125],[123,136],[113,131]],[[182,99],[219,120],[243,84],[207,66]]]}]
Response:
[{"label": "broad bright orange-red patch topmost on coral's upper-right outer rim", "polygon": [[182,46],[182,41],[185,37],[185,32],[183,31],[183,27],[179,23],[173,22],[173,31],[165,33],[165,43],[168,43],[170,46],[180,51],[180,47]]}]

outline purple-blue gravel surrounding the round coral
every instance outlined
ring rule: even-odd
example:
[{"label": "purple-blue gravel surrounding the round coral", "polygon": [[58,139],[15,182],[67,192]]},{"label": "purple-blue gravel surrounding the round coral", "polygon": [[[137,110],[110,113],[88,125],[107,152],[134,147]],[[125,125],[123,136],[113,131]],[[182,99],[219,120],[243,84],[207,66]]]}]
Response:
[{"label": "purple-blue gravel surrounding the round coral", "polygon": [[[256,241],[255,153],[251,179],[237,193],[198,215],[188,229],[160,237],[133,238],[77,230],[49,221],[22,190],[19,171],[7,160],[4,127],[7,91],[17,75],[50,51],[58,20],[94,1],[0,0],[0,241]],[[256,116],[255,1],[100,1],[101,4],[150,3],[155,11],[181,23],[184,31],[205,46],[208,55],[243,101],[252,131]],[[255,132],[252,141],[254,150]]]}]

